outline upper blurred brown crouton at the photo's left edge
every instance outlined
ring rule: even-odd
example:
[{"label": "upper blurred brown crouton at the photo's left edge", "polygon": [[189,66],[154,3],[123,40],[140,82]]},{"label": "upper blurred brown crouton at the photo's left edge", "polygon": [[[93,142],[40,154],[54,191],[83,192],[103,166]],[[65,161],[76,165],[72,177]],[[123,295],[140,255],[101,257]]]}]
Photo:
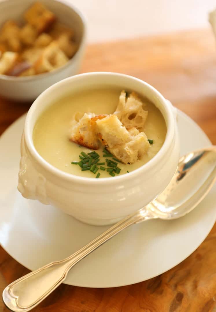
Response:
[{"label": "upper blurred brown crouton at the photo's left edge", "polygon": [[20,29],[16,22],[8,20],[0,30],[0,42],[7,45],[7,49],[13,52],[19,52],[22,49],[22,43],[19,39]]}]

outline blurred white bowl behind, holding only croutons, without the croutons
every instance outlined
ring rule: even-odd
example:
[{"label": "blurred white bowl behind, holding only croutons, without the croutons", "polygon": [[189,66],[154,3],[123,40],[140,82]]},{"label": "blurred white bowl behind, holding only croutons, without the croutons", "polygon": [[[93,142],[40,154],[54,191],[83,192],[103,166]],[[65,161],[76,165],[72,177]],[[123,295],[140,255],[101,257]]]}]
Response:
[{"label": "blurred white bowl behind, holding only croutons, without the croutons", "polygon": [[[23,22],[23,13],[35,0],[0,0],[0,27],[8,19]],[[66,0],[40,0],[55,13],[57,20],[75,31],[79,44],[76,54],[58,69],[44,74],[26,77],[0,75],[0,95],[16,101],[32,101],[44,90],[66,77],[78,73],[86,45],[86,22],[82,14]]]}]

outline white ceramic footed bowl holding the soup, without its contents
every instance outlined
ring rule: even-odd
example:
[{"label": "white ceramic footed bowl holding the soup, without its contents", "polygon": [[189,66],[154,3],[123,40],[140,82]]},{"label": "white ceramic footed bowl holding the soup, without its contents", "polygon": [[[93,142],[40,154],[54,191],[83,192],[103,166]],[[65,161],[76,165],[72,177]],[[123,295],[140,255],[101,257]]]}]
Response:
[{"label": "white ceramic footed bowl holding the soup, without its contents", "polygon": [[[148,163],[127,174],[96,179],[65,173],[38,154],[32,140],[34,125],[41,113],[63,95],[100,87],[134,90],[152,101],[166,122],[164,144]],[[24,197],[52,204],[82,222],[112,224],[145,206],[163,191],[176,170],[179,150],[176,109],[155,88],[123,74],[81,74],[52,85],[28,111],[21,142],[18,190]]]}]

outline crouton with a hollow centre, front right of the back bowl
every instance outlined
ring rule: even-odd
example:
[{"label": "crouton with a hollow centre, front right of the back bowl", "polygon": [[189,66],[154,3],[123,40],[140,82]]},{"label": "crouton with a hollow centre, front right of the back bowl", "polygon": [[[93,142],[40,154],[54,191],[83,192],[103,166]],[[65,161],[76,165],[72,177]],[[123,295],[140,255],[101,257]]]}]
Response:
[{"label": "crouton with a hollow centre, front right of the back bowl", "polygon": [[63,51],[58,47],[56,42],[51,42],[47,46],[40,58],[35,63],[35,71],[37,74],[53,71],[67,63],[69,59]]}]

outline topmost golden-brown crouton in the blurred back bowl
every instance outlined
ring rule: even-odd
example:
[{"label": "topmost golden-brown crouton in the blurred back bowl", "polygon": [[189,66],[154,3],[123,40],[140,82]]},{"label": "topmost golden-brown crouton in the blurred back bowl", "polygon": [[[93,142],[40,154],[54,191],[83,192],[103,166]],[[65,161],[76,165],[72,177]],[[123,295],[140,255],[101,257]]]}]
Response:
[{"label": "topmost golden-brown crouton in the blurred back bowl", "polygon": [[41,2],[35,2],[24,14],[27,23],[37,29],[38,33],[44,32],[56,20],[54,13],[49,11]]}]

